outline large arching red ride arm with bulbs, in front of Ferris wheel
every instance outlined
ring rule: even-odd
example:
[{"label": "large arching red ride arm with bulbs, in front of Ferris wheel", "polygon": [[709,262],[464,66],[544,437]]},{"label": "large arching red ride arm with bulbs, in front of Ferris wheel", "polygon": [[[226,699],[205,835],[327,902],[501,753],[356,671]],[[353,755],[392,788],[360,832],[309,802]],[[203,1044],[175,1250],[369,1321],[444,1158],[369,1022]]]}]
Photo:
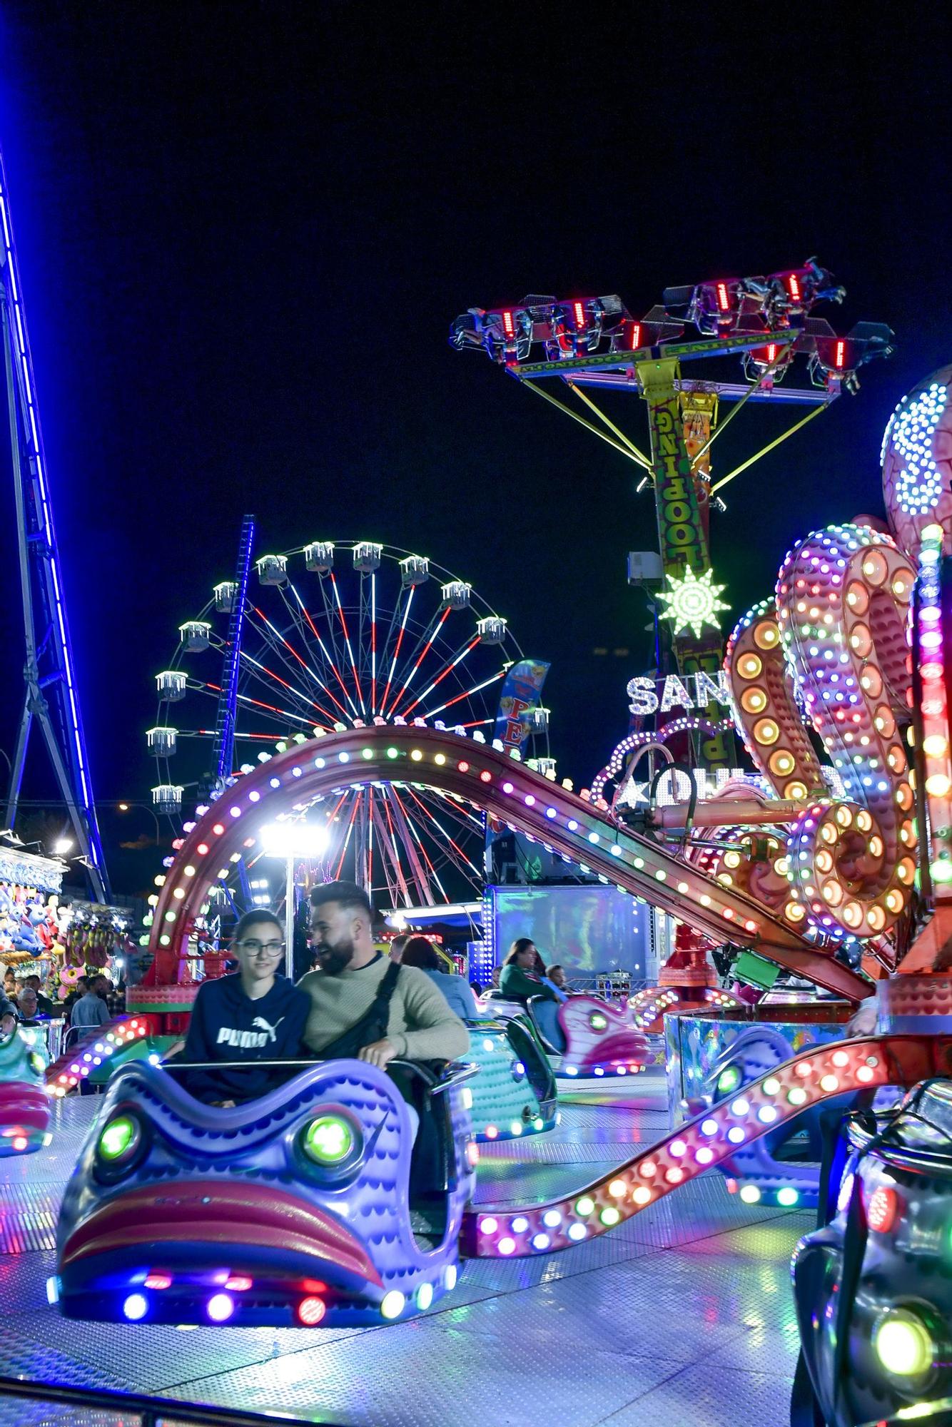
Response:
[{"label": "large arching red ride arm with bulbs, in front of Ferris wheel", "polygon": [[869,992],[862,977],[791,926],[652,839],[618,828],[581,798],[497,749],[430,728],[345,729],[295,743],[237,778],[196,823],[168,869],[150,933],[154,962],[148,980],[177,980],[190,928],[211,886],[260,846],[267,818],[370,783],[435,788],[464,798],[716,940],[756,946],[764,956],[852,1000]]}]

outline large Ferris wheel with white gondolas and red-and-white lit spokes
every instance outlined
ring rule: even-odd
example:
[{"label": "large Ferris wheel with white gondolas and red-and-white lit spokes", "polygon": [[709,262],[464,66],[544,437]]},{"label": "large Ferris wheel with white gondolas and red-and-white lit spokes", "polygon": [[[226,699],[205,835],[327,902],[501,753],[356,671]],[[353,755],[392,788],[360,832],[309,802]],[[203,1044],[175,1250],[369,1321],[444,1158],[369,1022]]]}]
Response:
[{"label": "large Ferris wheel with white gondolas and red-and-white lit spokes", "polygon": [[[180,625],[156,675],[153,803],[177,832],[293,741],[422,721],[492,742],[504,681],[522,652],[468,581],[370,541],[317,541],[253,567],[248,521],[237,578]],[[522,725],[520,756],[554,773],[548,711],[527,711]],[[481,895],[485,819],[457,796],[380,782],[295,811],[323,832],[310,858],[320,879],[355,880],[394,908]],[[230,869],[223,890],[236,908],[254,902],[257,873],[253,863]]]}]

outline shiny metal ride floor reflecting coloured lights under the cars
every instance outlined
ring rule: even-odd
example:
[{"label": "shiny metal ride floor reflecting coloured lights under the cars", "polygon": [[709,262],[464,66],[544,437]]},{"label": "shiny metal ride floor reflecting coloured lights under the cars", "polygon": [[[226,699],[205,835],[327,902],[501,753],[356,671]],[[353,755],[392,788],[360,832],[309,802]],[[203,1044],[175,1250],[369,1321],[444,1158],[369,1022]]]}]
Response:
[{"label": "shiny metal ride floor reflecting coloured lights under the cars", "polygon": [[[784,1427],[798,1336],[789,1256],[812,1216],[741,1203],[702,1174],[601,1239],[465,1264],[430,1313],[387,1327],[170,1329],[61,1319],[46,1301],[56,1214],[94,1097],[54,1104],[53,1144],[0,1162],[0,1376],[367,1427]],[[545,1136],[481,1146],[478,1199],[541,1202],[668,1126],[664,1076],[564,1097]],[[0,1427],[128,1414],[0,1397]]]}]

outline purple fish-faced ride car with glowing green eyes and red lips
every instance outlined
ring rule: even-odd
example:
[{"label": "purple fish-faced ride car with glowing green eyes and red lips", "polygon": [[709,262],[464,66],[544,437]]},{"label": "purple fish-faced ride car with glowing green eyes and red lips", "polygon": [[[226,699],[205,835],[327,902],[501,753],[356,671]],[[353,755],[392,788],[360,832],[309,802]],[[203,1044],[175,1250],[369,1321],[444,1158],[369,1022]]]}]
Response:
[{"label": "purple fish-faced ride car with glowing green eyes and red lips", "polygon": [[51,1300],[67,1317],[173,1324],[353,1326],[425,1310],[455,1284],[472,1193],[467,1073],[432,1086],[451,1163],[421,1244],[411,1117],[375,1066],[318,1062],[233,1109],[193,1099],[164,1067],[121,1069],[66,1189]]}]

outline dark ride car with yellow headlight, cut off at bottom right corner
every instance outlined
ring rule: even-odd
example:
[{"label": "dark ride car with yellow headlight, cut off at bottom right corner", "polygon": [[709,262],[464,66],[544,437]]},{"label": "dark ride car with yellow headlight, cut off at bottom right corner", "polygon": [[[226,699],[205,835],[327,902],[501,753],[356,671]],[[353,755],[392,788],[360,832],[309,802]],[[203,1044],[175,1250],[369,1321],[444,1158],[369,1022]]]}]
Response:
[{"label": "dark ride car with yellow headlight, cut off at bottom right corner", "polygon": [[812,1401],[829,1427],[936,1420],[952,1398],[952,1080],[925,1080],[891,1113],[858,1110],[846,1130],[825,1226],[792,1264]]}]

